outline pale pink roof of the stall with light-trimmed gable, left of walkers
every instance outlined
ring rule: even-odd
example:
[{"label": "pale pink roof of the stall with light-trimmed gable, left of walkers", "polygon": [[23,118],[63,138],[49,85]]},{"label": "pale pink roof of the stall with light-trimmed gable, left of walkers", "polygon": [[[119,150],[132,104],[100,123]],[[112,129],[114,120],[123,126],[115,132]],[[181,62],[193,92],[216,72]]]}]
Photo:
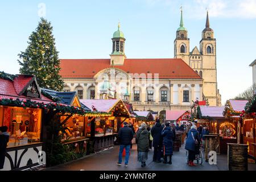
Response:
[{"label": "pale pink roof of the stall with light-trimmed gable, left of walkers", "polygon": [[80,100],[82,104],[88,107],[90,110],[93,110],[94,106],[100,112],[109,113],[112,107],[117,104],[119,100]]}]

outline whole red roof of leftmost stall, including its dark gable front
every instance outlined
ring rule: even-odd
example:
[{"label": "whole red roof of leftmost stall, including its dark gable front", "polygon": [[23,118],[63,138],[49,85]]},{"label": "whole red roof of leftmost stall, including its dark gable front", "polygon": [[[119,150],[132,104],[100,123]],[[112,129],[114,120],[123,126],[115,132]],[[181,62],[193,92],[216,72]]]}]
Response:
[{"label": "whole red roof of leftmost stall, including its dark gable front", "polygon": [[[35,84],[38,89],[39,97],[27,97],[24,93],[28,89],[28,86]],[[37,85],[36,77],[32,75],[15,75],[13,80],[0,77],[0,98],[16,100],[31,100],[35,102],[44,102],[48,104],[53,102],[51,99],[40,94],[40,88]]]}]

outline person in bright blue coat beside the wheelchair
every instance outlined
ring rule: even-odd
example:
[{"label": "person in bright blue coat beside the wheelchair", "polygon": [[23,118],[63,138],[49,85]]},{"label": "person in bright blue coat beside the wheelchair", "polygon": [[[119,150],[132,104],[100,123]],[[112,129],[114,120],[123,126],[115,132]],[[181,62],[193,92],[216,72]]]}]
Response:
[{"label": "person in bright blue coat beside the wheelchair", "polygon": [[191,126],[188,132],[188,138],[185,143],[185,150],[188,150],[188,165],[196,166],[194,160],[196,158],[197,146],[200,143],[199,134],[196,125]]}]

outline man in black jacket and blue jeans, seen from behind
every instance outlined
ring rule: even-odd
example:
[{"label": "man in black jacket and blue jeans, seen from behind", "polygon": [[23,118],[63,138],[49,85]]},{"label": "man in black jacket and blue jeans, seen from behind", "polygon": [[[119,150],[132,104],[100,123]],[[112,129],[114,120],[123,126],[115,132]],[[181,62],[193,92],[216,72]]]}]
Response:
[{"label": "man in black jacket and blue jeans, seen from behind", "polygon": [[130,155],[130,147],[131,147],[131,140],[133,140],[133,130],[128,127],[128,123],[123,123],[124,127],[119,130],[118,138],[120,140],[120,148],[119,148],[119,159],[118,159],[118,166],[122,165],[122,154],[123,149],[125,149],[125,167],[128,166],[129,162],[129,155]]}]

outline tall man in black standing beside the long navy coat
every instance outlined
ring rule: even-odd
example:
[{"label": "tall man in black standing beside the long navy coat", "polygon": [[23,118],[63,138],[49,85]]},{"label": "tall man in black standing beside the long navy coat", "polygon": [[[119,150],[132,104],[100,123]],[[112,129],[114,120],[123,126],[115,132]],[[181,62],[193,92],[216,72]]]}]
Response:
[{"label": "tall man in black standing beside the long navy coat", "polygon": [[163,130],[163,127],[161,126],[159,120],[156,120],[155,126],[153,126],[151,129],[151,135],[153,137],[152,146],[154,147],[153,161],[158,163],[161,162],[160,159],[162,154],[162,144],[163,144],[162,130]]}]

